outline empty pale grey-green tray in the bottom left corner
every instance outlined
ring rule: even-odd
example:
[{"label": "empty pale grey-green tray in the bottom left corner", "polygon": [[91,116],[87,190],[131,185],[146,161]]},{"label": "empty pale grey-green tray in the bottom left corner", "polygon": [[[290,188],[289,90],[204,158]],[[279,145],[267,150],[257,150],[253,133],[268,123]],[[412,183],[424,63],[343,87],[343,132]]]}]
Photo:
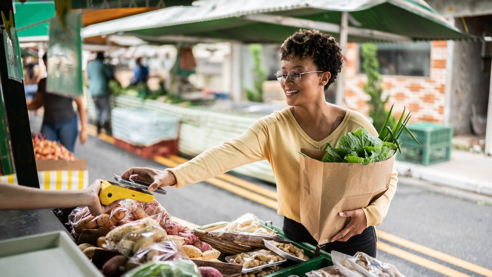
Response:
[{"label": "empty pale grey-green tray in the bottom left corner", "polygon": [[0,241],[1,276],[103,277],[64,231]]}]

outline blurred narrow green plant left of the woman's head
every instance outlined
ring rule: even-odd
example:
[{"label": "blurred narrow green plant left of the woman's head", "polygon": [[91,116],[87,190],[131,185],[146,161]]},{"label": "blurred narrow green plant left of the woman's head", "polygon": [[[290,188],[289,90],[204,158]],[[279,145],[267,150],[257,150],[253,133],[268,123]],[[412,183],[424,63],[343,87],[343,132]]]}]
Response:
[{"label": "blurred narrow green plant left of the woman's head", "polygon": [[247,100],[253,102],[263,102],[262,83],[267,80],[267,72],[263,68],[261,57],[261,44],[251,44],[249,46],[253,56],[253,89],[245,88]]}]

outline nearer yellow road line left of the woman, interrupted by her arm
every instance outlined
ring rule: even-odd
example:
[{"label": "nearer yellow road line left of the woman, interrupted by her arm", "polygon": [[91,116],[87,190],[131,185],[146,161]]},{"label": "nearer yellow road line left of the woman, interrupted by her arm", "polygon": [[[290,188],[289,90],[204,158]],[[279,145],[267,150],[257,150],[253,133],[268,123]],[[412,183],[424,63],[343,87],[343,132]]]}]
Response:
[{"label": "nearer yellow road line left of the woman, interrupted by her arm", "polygon": [[[159,164],[162,164],[164,166],[174,167],[174,166],[179,165],[178,162],[172,161],[172,160],[164,158],[164,157],[159,157],[159,156],[154,157],[154,161],[159,163]],[[221,180],[221,179],[216,178],[216,177],[207,179],[207,180],[205,180],[205,182],[210,183],[210,184],[212,184],[216,187],[219,187],[221,189],[224,189],[226,191],[229,191],[231,193],[241,195],[241,196],[245,197],[246,199],[258,202],[258,203],[263,204],[269,208],[277,210],[277,201],[274,199],[268,198],[264,195],[257,194],[257,193],[248,191],[246,189],[237,187],[234,184],[231,184],[229,182],[226,182],[226,181]]]}]

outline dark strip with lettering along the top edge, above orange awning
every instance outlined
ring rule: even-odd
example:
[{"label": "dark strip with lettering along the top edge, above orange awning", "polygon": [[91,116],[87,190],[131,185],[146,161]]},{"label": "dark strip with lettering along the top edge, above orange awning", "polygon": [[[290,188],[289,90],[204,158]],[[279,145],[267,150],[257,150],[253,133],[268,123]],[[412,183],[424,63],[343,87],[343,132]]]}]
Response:
[{"label": "dark strip with lettering along the top edge, above orange awning", "polygon": [[72,0],[72,9],[167,8],[189,6],[192,0]]}]

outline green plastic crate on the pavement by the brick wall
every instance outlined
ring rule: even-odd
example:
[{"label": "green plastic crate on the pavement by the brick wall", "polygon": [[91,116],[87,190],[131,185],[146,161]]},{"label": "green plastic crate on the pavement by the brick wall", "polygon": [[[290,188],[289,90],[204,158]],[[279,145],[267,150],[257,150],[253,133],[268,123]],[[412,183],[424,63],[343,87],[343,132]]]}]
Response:
[{"label": "green plastic crate on the pavement by the brick wall", "polygon": [[397,153],[398,160],[423,166],[450,160],[453,137],[453,128],[450,125],[420,122],[407,127],[422,146],[407,132],[401,133],[401,153]]}]

